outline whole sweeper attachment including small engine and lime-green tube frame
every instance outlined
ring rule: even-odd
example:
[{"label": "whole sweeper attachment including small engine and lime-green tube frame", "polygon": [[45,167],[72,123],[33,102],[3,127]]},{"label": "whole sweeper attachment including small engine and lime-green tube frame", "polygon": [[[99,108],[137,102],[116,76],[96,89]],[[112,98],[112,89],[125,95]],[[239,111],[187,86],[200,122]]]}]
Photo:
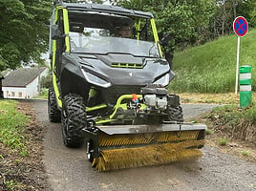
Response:
[{"label": "whole sweeper attachment including small engine and lime-green tube frame", "polygon": [[82,132],[92,165],[98,171],[109,171],[202,157],[199,149],[207,127],[182,122],[180,97],[152,85],[140,93],[117,99],[113,114],[104,120],[114,124],[88,120]]}]

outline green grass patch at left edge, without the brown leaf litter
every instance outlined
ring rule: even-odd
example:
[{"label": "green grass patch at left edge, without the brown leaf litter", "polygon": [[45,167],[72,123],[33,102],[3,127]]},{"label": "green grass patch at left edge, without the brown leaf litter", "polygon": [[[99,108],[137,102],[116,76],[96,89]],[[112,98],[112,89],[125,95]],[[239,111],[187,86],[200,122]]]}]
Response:
[{"label": "green grass patch at left edge, without the brown leaf litter", "polygon": [[0,143],[25,157],[28,149],[24,127],[28,125],[29,117],[17,112],[16,104],[13,100],[0,100]]}]

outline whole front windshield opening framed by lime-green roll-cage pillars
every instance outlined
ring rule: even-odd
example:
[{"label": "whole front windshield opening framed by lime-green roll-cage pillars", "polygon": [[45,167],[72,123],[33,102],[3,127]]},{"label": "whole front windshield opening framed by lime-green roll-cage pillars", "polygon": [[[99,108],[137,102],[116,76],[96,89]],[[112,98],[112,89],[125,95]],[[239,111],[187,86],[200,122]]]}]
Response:
[{"label": "whole front windshield opening framed by lime-green roll-cage pillars", "polygon": [[149,19],[100,12],[69,13],[72,53],[160,57]]}]

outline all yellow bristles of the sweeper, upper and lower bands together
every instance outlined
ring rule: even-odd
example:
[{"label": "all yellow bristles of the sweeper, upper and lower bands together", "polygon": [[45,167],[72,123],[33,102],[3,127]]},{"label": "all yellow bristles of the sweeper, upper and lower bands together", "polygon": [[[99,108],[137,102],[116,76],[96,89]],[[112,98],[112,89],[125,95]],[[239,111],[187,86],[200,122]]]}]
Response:
[{"label": "all yellow bristles of the sweeper, upper and lower bands together", "polygon": [[205,141],[200,131],[160,132],[138,135],[99,134],[100,156],[92,166],[98,171],[167,164],[174,161],[199,159]]}]

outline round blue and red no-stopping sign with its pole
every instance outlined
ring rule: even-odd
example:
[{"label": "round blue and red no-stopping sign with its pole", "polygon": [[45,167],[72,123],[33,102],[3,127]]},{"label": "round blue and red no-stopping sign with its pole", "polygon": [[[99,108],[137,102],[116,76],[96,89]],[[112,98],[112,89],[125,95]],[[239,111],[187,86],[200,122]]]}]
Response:
[{"label": "round blue and red no-stopping sign with its pole", "polygon": [[238,73],[239,73],[239,54],[240,54],[240,37],[245,36],[248,31],[248,23],[243,16],[235,18],[233,23],[233,30],[237,34],[237,67],[236,67],[236,87],[235,94],[237,95],[238,90]]}]

